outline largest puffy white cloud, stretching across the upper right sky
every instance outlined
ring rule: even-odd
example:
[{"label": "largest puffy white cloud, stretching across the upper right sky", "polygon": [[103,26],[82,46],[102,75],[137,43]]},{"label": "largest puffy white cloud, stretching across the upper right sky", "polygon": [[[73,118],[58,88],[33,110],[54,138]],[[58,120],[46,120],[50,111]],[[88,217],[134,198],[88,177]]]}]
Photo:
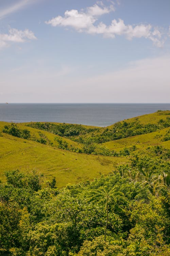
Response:
[{"label": "largest puffy white cloud, stretching across the upper right sky", "polygon": [[128,40],[143,37],[150,39],[158,47],[163,46],[162,33],[151,24],[125,25],[122,19],[113,19],[111,25],[108,26],[103,22],[97,24],[98,16],[112,11],[115,11],[113,4],[106,7],[102,2],[98,2],[81,12],[78,10],[66,11],[63,17],[56,16],[45,23],[53,27],[69,26],[78,32],[102,34],[106,38],[115,38],[116,35],[124,35]]}]

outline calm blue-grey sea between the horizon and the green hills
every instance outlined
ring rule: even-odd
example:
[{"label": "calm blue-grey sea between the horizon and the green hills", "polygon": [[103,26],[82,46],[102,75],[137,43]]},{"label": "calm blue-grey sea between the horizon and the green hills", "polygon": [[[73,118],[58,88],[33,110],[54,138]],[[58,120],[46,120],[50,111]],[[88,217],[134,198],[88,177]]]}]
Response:
[{"label": "calm blue-grey sea between the horizon and the green hills", "polygon": [[170,110],[170,103],[0,103],[0,120],[16,123],[64,122],[104,127],[159,109]]}]

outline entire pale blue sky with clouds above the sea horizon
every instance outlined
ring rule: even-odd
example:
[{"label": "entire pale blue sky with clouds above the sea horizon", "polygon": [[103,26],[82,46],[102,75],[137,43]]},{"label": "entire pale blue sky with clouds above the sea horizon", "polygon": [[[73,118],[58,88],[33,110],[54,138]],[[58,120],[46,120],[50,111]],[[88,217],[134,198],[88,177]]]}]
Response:
[{"label": "entire pale blue sky with clouds above the sea horizon", "polygon": [[0,0],[0,102],[169,103],[169,0]]}]

